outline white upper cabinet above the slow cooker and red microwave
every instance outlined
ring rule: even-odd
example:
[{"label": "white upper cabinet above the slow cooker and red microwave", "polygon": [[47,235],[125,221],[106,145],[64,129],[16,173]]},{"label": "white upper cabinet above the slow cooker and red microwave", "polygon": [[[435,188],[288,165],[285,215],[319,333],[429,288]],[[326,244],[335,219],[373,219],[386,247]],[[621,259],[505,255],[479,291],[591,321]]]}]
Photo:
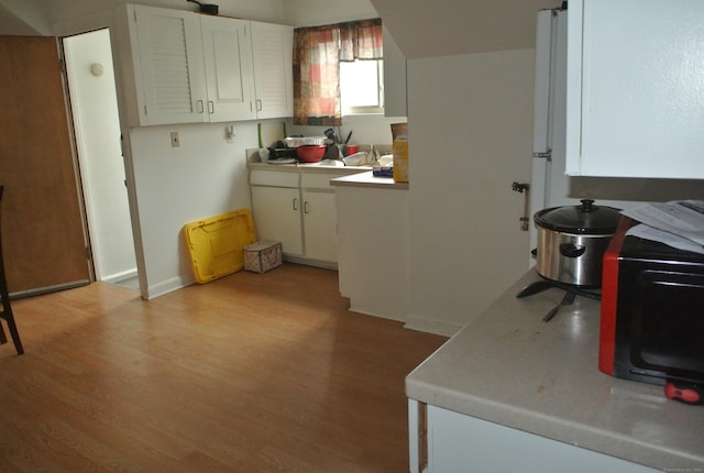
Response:
[{"label": "white upper cabinet above the slow cooker and red microwave", "polygon": [[704,2],[574,0],[566,173],[704,178]]}]

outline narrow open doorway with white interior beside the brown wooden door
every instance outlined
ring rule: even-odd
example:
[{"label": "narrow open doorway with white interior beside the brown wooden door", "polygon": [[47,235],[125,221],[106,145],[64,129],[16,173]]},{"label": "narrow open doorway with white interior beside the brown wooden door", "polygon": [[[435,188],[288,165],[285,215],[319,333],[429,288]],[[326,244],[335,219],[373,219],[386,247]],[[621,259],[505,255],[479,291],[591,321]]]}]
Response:
[{"label": "narrow open doorway with white interior beside the brown wooden door", "polygon": [[96,279],[139,290],[110,31],[62,41]]}]

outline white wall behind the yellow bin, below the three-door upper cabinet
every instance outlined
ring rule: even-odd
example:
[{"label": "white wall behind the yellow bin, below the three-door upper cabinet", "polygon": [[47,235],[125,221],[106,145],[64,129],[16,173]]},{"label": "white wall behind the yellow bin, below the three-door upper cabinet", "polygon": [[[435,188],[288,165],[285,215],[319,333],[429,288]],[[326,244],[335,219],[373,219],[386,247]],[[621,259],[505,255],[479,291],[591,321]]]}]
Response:
[{"label": "white wall behind the yellow bin, below the three-door upper cabinet", "polygon": [[[130,129],[146,298],[194,282],[184,224],[251,208],[244,156],[245,148],[256,147],[256,122],[235,123],[234,143],[226,140],[228,124]],[[179,147],[170,146],[174,131]]]}]

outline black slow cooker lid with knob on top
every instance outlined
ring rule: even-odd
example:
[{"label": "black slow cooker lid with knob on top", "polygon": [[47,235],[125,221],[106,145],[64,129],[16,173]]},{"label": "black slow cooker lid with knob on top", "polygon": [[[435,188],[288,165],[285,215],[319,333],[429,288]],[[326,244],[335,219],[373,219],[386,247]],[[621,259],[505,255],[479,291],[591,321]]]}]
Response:
[{"label": "black slow cooker lid with knob on top", "polygon": [[613,207],[595,206],[584,199],[581,206],[553,207],[535,215],[537,226],[565,233],[613,234],[620,212]]}]

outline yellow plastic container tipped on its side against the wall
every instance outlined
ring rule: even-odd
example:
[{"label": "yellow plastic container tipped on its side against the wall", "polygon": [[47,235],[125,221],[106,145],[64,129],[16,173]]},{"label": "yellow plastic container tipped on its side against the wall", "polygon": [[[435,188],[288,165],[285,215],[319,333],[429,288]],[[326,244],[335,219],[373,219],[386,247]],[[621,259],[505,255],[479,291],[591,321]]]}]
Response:
[{"label": "yellow plastic container tipped on its side against the wall", "polygon": [[256,241],[252,213],[234,210],[184,226],[194,278],[209,283],[244,267],[244,246]]}]

